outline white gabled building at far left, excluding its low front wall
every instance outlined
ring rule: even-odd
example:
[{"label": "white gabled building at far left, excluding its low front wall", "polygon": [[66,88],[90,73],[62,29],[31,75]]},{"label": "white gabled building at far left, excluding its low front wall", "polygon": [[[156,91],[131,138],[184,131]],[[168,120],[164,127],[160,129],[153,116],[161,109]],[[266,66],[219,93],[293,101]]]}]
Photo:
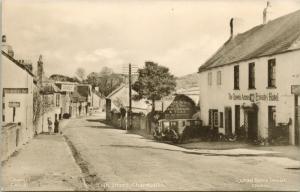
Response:
[{"label": "white gabled building at far left, excluding its low front wall", "polygon": [[32,71],[14,58],[11,46],[2,38],[2,123],[21,127],[19,140],[24,143],[33,132],[33,78]]}]

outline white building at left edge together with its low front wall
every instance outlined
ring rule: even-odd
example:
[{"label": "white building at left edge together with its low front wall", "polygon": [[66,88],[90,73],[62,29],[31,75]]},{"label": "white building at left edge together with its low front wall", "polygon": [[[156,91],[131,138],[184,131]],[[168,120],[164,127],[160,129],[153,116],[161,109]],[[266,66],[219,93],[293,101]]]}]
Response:
[{"label": "white building at left edge together with its low front wall", "polygon": [[34,135],[32,67],[14,58],[14,51],[2,37],[1,48],[2,129],[1,161]]}]

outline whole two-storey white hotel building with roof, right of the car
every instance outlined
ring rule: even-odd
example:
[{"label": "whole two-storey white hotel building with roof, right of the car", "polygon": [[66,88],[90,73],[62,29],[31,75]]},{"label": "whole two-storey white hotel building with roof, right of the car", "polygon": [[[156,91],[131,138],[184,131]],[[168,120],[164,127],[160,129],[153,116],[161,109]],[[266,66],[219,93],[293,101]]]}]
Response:
[{"label": "whole two-storey white hotel building with roof, right of the car", "polygon": [[233,34],[199,68],[200,117],[226,135],[299,145],[300,11]]}]

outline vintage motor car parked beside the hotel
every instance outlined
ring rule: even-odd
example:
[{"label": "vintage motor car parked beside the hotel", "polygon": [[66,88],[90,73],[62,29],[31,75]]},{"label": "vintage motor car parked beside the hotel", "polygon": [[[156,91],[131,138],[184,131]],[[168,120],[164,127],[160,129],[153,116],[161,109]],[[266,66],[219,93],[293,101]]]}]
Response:
[{"label": "vintage motor car parked beside the hotel", "polygon": [[159,141],[181,143],[189,138],[189,131],[201,127],[201,121],[196,119],[161,119],[153,132],[153,137]]}]

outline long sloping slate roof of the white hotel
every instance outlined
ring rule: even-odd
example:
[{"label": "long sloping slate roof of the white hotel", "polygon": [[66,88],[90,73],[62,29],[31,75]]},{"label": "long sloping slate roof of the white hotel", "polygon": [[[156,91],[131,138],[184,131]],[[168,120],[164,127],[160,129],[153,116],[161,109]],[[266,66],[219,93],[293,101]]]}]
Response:
[{"label": "long sloping slate roof of the white hotel", "polygon": [[214,67],[300,50],[300,10],[230,38],[202,66]]}]

